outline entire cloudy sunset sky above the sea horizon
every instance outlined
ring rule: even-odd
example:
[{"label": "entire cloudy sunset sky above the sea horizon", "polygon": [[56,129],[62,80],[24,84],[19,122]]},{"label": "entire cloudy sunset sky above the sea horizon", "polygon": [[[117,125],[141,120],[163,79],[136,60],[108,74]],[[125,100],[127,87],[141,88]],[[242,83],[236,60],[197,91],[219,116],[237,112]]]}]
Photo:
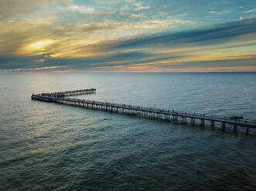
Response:
[{"label": "entire cloudy sunset sky above the sea horizon", "polygon": [[255,0],[1,0],[0,72],[256,72]]}]

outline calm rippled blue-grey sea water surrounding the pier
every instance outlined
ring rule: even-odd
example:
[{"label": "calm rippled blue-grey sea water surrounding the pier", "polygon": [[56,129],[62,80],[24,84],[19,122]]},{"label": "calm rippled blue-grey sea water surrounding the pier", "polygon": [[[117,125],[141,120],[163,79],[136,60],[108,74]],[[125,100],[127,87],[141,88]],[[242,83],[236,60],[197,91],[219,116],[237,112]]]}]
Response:
[{"label": "calm rippled blue-grey sea water surrounding the pier", "polygon": [[256,118],[256,73],[0,74],[0,190],[256,190],[256,138],[32,101],[79,96]]}]

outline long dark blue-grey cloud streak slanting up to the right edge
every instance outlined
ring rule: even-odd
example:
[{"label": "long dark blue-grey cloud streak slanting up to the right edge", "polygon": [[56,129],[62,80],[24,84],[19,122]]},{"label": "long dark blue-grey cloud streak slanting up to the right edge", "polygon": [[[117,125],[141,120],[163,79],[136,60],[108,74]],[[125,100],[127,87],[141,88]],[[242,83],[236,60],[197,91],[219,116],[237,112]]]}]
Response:
[{"label": "long dark blue-grey cloud streak slanting up to the right edge", "polygon": [[142,46],[179,46],[188,44],[207,45],[218,44],[239,38],[241,35],[256,33],[256,18],[238,22],[215,25],[211,28],[176,32],[164,35],[154,35],[130,39],[113,45],[114,49],[142,47]]}]

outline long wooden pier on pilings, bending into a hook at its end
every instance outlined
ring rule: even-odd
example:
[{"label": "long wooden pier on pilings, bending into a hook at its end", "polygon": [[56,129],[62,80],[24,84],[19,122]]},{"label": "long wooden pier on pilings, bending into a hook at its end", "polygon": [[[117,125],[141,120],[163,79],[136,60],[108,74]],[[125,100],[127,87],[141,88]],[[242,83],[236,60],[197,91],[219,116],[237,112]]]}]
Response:
[{"label": "long wooden pier on pilings, bending into a hook at its end", "polygon": [[199,113],[191,112],[176,112],[174,110],[155,109],[142,106],[131,106],[125,104],[111,103],[111,102],[97,102],[85,99],[67,98],[72,95],[85,95],[95,93],[96,89],[80,89],[67,92],[51,92],[42,94],[32,94],[32,100],[39,100],[44,102],[55,102],[65,105],[82,106],[87,109],[104,110],[108,112],[117,112],[121,114],[136,115],[148,117],[152,119],[162,119],[173,122],[190,122],[193,126],[198,124],[200,126],[210,125],[211,129],[216,128],[216,124],[221,125],[222,131],[226,130],[226,125],[233,126],[234,132],[237,132],[237,126],[245,128],[246,134],[249,129],[256,128],[256,120],[242,119],[239,117],[227,118],[221,116],[207,116]]}]

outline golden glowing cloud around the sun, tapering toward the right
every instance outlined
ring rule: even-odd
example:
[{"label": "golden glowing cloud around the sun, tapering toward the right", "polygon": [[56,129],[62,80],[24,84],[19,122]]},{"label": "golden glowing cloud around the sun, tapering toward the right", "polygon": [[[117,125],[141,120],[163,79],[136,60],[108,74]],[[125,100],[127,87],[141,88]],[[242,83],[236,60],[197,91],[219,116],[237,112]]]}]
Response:
[{"label": "golden glowing cloud around the sun, tapering toward the right", "polygon": [[[95,43],[127,38],[149,30],[162,30],[182,20],[140,20],[135,22],[65,23],[56,15],[27,18],[24,21],[0,23],[0,55],[46,55],[55,58],[77,58],[105,55],[113,51],[101,51]],[[108,39],[108,41],[107,41]],[[50,43],[49,43],[50,42]],[[115,51],[114,51],[115,52]],[[39,58],[44,59],[44,58]],[[0,61],[1,62],[1,61]]]}]

